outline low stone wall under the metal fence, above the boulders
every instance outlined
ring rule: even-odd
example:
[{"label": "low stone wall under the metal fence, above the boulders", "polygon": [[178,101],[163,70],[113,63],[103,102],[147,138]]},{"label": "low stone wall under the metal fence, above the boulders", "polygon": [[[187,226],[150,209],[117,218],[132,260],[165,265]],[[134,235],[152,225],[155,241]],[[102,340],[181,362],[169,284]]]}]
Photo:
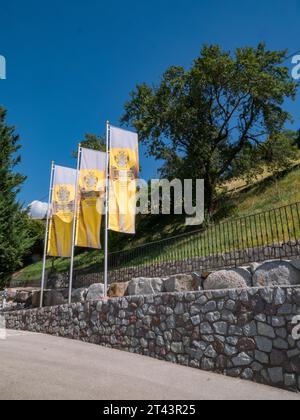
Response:
[{"label": "low stone wall under the metal fence, above the boulders", "polygon": [[[221,268],[239,267],[241,265],[263,262],[266,260],[299,258],[300,241],[291,241],[284,244],[236,250],[223,254],[177,259],[168,262],[153,261],[147,265],[122,267],[122,260],[118,266],[114,261],[110,266],[109,282],[127,282],[136,277],[168,277],[174,274],[192,273],[194,271],[213,271]],[[92,272],[91,272],[92,270]],[[103,264],[96,265],[88,270],[75,270],[74,288],[88,287],[94,283],[104,281]],[[33,281],[12,280],[10,287],[39,287],[40,279]],[[69,285],[69,273],[57,273],[46,280],[46,288],[62,289]]]}]

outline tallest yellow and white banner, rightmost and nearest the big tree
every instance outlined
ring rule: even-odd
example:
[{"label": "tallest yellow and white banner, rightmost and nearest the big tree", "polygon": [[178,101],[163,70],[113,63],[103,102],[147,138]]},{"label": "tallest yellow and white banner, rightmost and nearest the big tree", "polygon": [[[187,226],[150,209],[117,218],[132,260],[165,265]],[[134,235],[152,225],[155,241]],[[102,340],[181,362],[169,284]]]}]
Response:
[{"label": "tallest yellow and white banner, rightmost and nearest the big tree", "polygon": [[110,127],[109,229],[135,234],[138,135]]}]

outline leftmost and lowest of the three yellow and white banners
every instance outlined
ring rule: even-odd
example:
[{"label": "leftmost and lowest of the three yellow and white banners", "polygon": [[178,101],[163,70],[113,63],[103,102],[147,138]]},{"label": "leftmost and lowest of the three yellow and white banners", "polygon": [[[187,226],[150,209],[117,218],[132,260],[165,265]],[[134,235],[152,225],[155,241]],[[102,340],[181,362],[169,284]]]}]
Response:
[{"label": "leftmost and lowest of the three yellow and white banners", "polygon": [[76,170],[54,167],[52,214],[48,252],[52,257],[71,257]]}]

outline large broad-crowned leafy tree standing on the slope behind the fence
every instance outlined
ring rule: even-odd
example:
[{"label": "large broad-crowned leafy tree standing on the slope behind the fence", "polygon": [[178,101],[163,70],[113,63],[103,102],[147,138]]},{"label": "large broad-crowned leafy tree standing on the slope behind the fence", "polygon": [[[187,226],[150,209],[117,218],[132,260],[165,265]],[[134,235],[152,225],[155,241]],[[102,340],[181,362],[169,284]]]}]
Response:
[{"label": "large broad-crowned leafy tree standing on the slope behind the fence", "polygon": [[159,85],[138,85],[122,122],[165,162],[163,176],[203,178],[212,212],[225,179],[274,165],[275,157],[277,165],[286,164],[287,144],[288,159],[294,157],[283,137],[290,118],[284,102],[295,98],[297,85],[285,56],[264,44],[233,54],[204,46],[190,70],[170,67]]}]

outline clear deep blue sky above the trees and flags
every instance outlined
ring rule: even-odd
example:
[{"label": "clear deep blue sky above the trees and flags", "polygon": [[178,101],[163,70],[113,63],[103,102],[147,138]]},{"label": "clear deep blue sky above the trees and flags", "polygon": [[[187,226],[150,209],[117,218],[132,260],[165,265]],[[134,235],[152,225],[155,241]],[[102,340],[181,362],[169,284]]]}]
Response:
[{"label": "clear deep blue sky above the trees and flags", "polygon": [[[21,200],[47,195],[51,160],[75,165],[84,133],[118,124],[137,83],[188,67],[203,43],[298,51],[299,16],[299,0],[0,0],[0,104],[21,135]],[[288,108],[300,127],[298,104]],[[142,166],[156,174],[152,159]]]}]

